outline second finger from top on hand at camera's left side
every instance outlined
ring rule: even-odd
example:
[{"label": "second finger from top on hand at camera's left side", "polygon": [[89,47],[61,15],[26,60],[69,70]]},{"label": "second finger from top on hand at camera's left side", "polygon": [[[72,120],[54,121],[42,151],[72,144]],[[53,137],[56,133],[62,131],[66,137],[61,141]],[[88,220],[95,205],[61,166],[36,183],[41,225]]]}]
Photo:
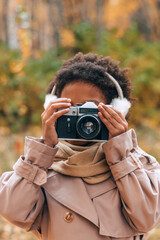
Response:
[{"label": "second finger from top on hand at camera's left side", "polygon": [[71,103],[54,103],[50,105],[46,113],[43,115],[42,119],[46,120],[53,115],[54,112],[57,112],[61,108],[69,108]]}]

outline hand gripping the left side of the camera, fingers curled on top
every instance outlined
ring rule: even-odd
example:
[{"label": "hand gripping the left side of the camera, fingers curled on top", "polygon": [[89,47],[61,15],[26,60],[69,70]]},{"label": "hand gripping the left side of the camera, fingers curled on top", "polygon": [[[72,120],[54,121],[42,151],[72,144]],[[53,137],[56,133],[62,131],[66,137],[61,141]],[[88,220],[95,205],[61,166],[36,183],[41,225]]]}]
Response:
[{"label": "hand gripping the left side of the camera, fingers curled on top", "polygon": [[69,112],[71,106],[70,102],[71,99],[68,98],[57,98],[41,115],[44,143],[50,147],[58,143],[55,124],[59,117]]}]

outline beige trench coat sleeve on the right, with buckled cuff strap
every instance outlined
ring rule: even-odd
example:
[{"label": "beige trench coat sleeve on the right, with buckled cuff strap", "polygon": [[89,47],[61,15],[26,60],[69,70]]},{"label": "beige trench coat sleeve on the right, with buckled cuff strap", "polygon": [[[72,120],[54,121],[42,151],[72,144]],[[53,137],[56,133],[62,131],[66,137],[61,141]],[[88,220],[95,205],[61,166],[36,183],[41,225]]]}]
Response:
[{"label": "beige trench coat sleeve on the right, with buckled cuff strap", "polygon": [[133,129],[104,143],[129,225],[148,232],[160,223],[160,165],[137,145]]}]

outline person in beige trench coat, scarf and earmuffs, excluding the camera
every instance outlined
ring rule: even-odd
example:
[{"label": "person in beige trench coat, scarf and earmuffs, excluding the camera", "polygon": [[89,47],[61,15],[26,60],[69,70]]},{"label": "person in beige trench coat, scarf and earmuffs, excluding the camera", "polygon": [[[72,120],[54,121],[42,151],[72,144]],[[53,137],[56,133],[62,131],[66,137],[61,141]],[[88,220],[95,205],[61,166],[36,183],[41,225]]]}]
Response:
[{"label": "person in beige trench coat, scarf and earmuffs, excluding the camera", "polygon": [[[0,179],[1,215],[43,240],[146,239],[160,222],[160,167],[128,130],[126,70],[109,57],[79,53],[47,93],[43,139],[27,137],[24,156]],[[58,141],[57,120],[88,101],[109,140]]]}]

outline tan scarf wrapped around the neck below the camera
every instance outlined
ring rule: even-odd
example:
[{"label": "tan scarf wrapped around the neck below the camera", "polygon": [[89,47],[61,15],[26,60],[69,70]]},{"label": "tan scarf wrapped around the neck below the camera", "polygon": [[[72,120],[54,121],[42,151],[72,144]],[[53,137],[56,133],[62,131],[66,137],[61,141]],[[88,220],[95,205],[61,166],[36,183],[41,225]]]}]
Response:
[{"label": "tan scarf wrapped around the neck below the camera", "polygon": [[58,151],[51,168],[64,175],[81,177],[89,184],[103,182],[111,176],[111,172],[102,144],[77,146],[61,141],[58,143]]}]

